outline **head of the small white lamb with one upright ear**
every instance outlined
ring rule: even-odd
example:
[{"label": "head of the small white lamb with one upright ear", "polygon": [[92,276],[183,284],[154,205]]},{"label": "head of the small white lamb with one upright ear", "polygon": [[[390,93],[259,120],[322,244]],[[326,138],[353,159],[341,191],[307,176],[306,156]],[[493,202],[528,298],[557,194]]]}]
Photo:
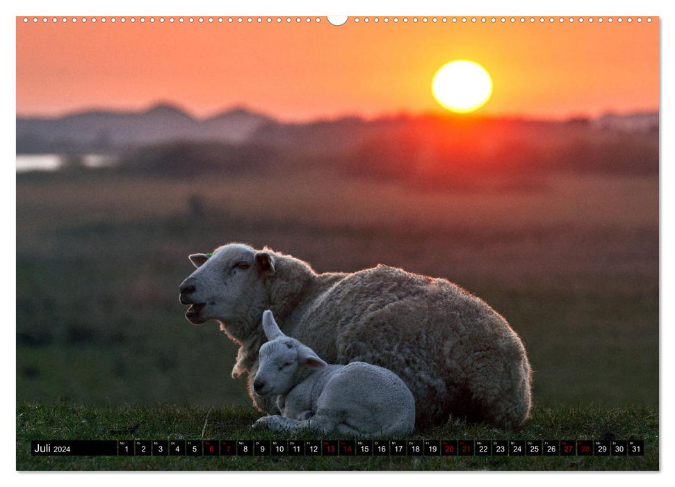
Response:
[{"label": "head of the small white lamb with one upright ear", "polygon": [[270,310],[263,313],[263,330],[269,341],[259,351],[258,372],[253,380],[256,394],[288,394],[298,383],[300,371],[326,367],[326,362],[309,346],[282,333]]}]

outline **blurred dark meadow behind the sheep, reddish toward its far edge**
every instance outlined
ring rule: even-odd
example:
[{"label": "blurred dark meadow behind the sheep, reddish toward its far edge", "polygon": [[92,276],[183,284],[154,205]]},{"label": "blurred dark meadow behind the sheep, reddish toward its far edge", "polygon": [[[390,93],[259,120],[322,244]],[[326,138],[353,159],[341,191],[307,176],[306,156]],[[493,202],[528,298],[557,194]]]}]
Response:
[{"label": "blurred dark meadow behind the sheep, reddish toward its far edge", "polygon": [[339,173],[17,175],[17,400],[248,404],[236,347],[182,316],[189,253],[446,277],[501,312],[535,404],[658,405],[658,175],[453,191]]}]

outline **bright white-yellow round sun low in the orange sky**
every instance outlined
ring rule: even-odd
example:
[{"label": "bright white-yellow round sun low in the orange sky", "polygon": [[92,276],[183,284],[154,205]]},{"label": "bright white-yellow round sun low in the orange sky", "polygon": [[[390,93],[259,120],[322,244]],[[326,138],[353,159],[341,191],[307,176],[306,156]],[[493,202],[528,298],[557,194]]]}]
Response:
[{"label": "bright white-yellow round sun low in the orange sky", "polygon": [[492,79],[473,61],[453,61],[441,66],[431,83],[434,98],[457,113],[478,110],[492,95]]}]

